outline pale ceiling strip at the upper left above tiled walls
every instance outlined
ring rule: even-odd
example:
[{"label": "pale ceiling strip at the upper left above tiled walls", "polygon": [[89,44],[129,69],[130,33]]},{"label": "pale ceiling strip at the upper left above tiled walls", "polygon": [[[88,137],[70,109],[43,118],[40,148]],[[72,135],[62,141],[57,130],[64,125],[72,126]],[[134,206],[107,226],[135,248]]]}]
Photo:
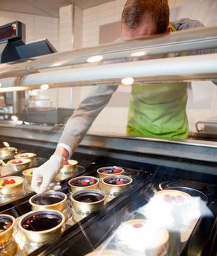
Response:
[{"label": "pale ceiling strip at the upper left above tiled walls", "polygon": [[108,1],[111,0],[0,0],[0,10],[58,17],[59,8],[68,4],[87,9]]}]

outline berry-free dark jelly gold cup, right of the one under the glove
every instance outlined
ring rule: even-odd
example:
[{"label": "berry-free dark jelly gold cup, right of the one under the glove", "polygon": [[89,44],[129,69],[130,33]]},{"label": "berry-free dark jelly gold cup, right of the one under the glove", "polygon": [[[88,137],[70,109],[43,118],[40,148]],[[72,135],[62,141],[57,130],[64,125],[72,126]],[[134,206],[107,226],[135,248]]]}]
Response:
[{"label": "berry-free dark jelly gold cup, right of the one under the glove", "polygon": [[75,211],[91,213],[103,206],[106,194],[98,189],[83,189],[70,196]]}]

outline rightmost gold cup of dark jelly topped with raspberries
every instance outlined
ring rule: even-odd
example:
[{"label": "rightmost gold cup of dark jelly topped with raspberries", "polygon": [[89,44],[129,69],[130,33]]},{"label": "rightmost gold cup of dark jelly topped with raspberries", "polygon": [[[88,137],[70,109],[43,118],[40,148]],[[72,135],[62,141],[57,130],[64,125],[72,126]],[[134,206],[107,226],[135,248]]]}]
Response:
[{"label": "rightmost gold cup of dark jelly topped with raspberries", "polygon": [[118,195],[130,189],[133,179],[125,175],[107,176],[103,178],[101,187],[106,195]]}]

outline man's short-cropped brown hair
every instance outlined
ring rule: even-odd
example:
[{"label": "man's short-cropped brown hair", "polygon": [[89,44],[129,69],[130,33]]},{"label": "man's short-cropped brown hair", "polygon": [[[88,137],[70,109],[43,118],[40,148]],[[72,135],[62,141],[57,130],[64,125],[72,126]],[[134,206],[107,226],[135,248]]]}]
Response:
[{"label": "man's short-cropped brown hair", "polygon": [[165,33],[170,17],[167,0],[127,0],[122,12],[122,23],[129,29],[136,29],[146,15],[155,21],[158,34]]}]

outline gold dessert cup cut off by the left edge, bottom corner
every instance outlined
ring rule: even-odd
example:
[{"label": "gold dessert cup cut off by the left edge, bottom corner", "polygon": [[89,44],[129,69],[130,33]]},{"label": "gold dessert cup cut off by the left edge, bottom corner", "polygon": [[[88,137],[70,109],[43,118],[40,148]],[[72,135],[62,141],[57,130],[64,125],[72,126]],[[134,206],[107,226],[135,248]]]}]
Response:
[{"label": "gold dessert cup cut off by the left edge, bottom corner", "polygon": [[10,238],[12,238],[14,225],[15,225],[14,217],[7,214],[0,214],[0,244],[4,244]]}]

